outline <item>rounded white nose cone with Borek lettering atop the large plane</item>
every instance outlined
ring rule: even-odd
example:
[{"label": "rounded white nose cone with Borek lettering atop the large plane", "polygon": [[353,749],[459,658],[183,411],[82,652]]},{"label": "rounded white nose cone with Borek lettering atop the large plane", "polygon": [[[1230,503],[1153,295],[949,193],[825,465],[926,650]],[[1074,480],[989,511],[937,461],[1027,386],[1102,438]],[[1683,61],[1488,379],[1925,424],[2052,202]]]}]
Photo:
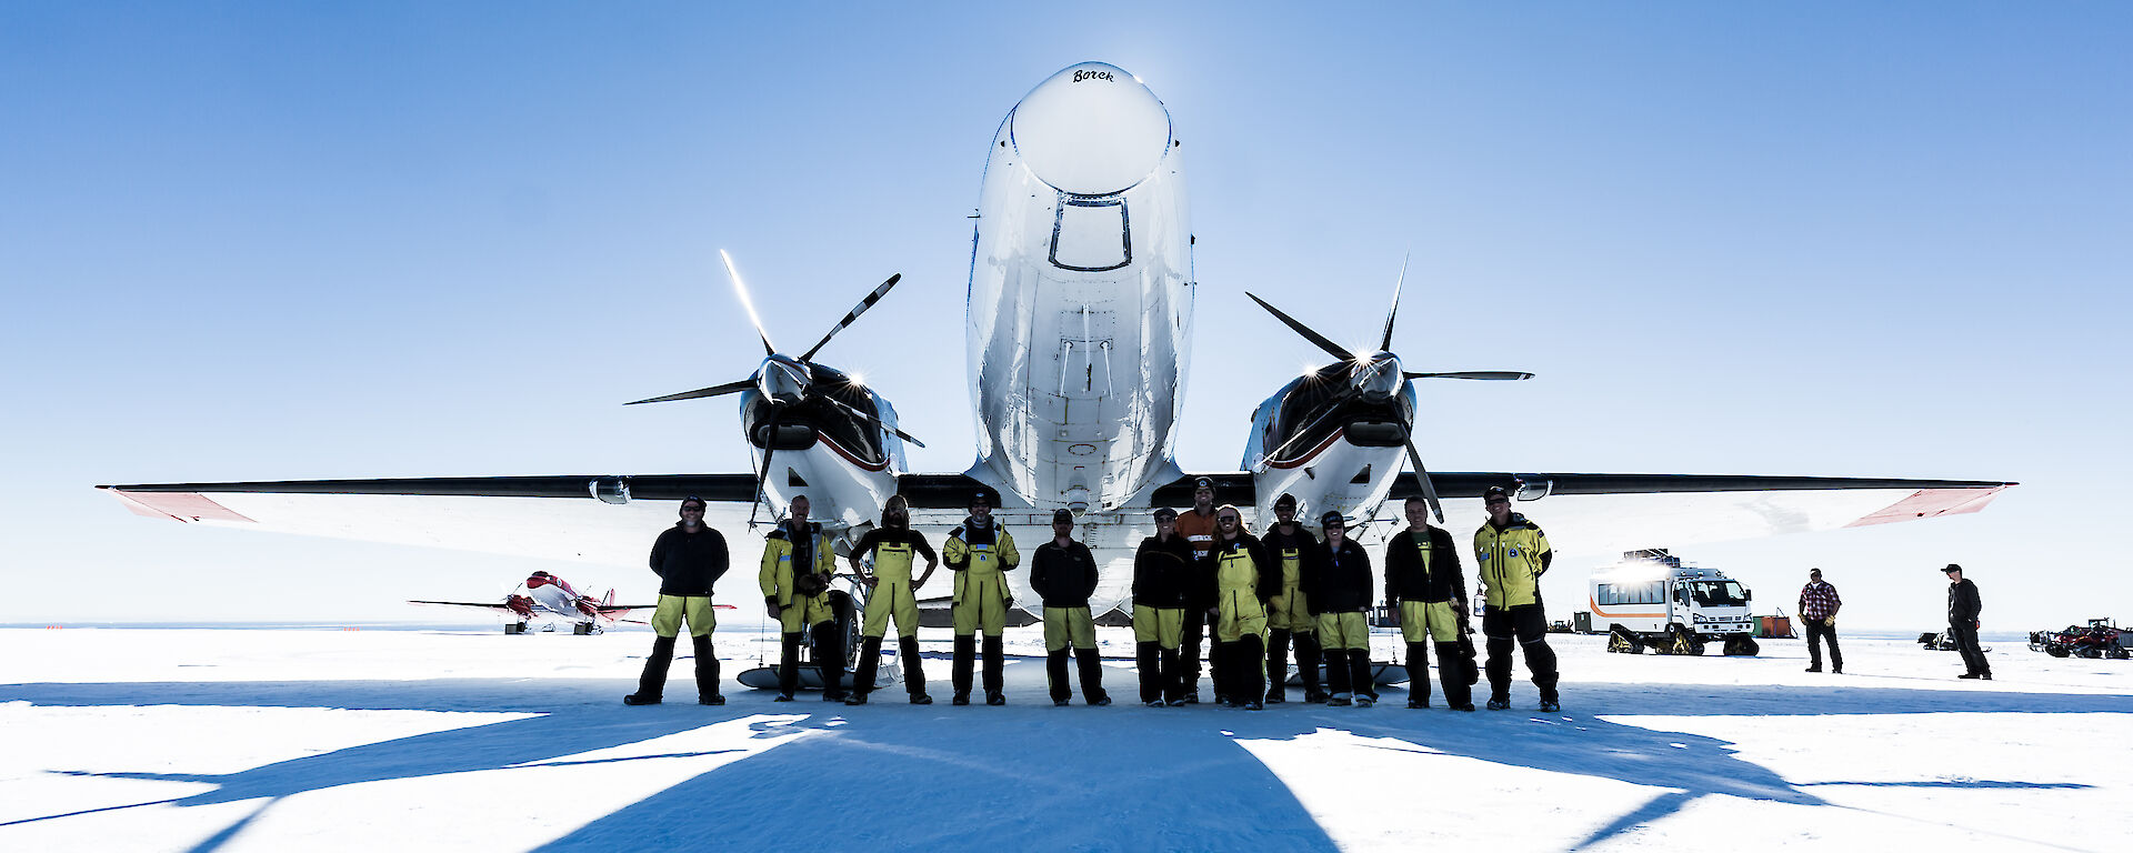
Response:
[{"label": "rounded white nose cone with Borek lettering atop the large plane", "polygon": [[1041,181],[1077,196],[1111,196],[1162,162],[1171,113],[1133,75],[1084,62],[1037,83],[1015,104],[1009,134]]}]

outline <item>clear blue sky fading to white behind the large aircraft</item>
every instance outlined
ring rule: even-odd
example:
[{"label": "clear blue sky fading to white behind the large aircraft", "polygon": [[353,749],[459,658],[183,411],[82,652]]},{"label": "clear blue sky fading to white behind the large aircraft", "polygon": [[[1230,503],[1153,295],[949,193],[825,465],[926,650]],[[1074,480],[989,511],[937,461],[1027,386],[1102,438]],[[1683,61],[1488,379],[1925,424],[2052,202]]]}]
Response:
[{"label": "clear blue sky fading to white behind the large aircraft", "polygon": [[755,367],[721,247],[787,348],[904,273],[823,360],[964,469],[985,145],[1081,60],[1184,141],[1188,469],[1314,358],[1244,290],[1361,341],[1412,250],[1410,369],[1540,375],[1425,386],[1433,469],[2020,480],[1685,552],[1777,601],[1822,565],[1860,627],[1939,618],[1947,561],[1988,629],[2133,618],[2122,4],[791,6],[0,11],[0,623],[422,618],[527,569],[98,482],[747,469],[729,405],[619,405]]}]

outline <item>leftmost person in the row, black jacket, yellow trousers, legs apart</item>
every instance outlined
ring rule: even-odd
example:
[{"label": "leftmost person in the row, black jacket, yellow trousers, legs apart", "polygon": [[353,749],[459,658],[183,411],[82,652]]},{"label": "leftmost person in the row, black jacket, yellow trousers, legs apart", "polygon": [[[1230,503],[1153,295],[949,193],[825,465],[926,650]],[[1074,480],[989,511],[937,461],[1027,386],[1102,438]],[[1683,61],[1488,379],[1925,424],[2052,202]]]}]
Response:
[{"label": "leftmost person in the row, black jacket, yellow trousers, legs apart", "polygon": [[683,621],[695,644],[695,702],[723,706],[719,693],[719,657],[710,648],[717,627],[710,591],[727,569],[725,535],[704,525],[704,499],[680,501],[680,522],[653,542],[653,574],[659,576],[659,606],[653,610],[653,653],[644,659],[638,691],[623,697],[629,706],[657,706],[665,693],[665,672],[674,663],[674,640]]}]

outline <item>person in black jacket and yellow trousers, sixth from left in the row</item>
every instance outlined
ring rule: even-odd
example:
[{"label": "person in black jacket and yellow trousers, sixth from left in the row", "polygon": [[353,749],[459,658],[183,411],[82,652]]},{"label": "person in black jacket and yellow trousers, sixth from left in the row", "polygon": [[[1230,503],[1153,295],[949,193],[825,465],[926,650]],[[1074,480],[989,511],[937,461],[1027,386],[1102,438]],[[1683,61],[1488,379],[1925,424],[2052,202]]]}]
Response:
[{"label": "person in black jacket and yellow trousers, sixth from left in the row", "polygon": [[1184,706],[1186,589],[1192,584],[1192,544],[1177,535],[1177,510],[1156,510],[1156,535],[1133,554],[1133,650],[1141,672],[1141,704]]}]

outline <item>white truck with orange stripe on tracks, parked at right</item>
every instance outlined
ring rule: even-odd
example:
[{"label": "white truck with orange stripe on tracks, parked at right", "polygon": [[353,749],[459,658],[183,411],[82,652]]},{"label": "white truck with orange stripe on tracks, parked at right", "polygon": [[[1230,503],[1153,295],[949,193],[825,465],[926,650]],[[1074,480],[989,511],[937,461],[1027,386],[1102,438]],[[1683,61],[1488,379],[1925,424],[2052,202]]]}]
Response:
[{"label": "white truck with orange stripe on tracks, parked at right", "polygon": [[1706,642],[1719,642],[1726,655],[1758,653],[1753,593],[1723,572],[1681,565],[1666,548],[1623,552],[1587,589],[1593,623],[1608,627],[1610,653],[1702,655]]}]

